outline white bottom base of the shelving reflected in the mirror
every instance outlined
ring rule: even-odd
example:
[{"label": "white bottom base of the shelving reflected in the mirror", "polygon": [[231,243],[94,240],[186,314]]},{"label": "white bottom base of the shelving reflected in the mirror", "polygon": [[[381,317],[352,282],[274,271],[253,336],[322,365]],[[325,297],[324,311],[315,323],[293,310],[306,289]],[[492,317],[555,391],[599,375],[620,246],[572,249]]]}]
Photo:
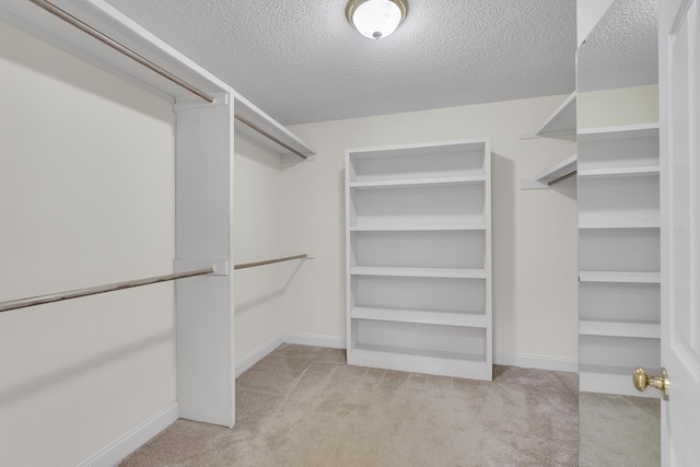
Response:
[{"label": "white bottom base of the shelving reflected in the mirror", "polygon": [[582,364],[579,371],[579,390],[658,399],[660,390],[652,388],[639,392],[634,388],[633,371],[632,367]]}]

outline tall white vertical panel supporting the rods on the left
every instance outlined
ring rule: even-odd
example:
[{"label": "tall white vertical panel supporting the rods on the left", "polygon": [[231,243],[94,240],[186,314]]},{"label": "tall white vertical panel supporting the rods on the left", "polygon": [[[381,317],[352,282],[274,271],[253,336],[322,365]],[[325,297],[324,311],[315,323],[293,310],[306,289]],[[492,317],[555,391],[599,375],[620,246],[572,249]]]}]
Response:
[{"label": "tall white vertical panel supporting the rods on the left", "polygon": [[[229,95],[218,97],[175,106],[175,256],[233,265],[233,112]],[[175,293],[179,416],[233,427],[233,275],[179,281]]]}]

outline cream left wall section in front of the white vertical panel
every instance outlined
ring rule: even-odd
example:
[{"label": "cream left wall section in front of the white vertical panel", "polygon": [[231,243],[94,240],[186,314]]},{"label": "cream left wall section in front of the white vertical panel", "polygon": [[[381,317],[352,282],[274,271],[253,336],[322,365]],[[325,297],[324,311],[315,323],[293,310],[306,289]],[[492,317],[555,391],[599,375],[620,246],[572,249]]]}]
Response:
[{"label": "cream left wall section in front of the white vertical panel", "polygon": [[[172,271],[172,105],[0,23],[0,301]],[[176,399],[173,285],[0,314],[0,465],[71,466]]]}]

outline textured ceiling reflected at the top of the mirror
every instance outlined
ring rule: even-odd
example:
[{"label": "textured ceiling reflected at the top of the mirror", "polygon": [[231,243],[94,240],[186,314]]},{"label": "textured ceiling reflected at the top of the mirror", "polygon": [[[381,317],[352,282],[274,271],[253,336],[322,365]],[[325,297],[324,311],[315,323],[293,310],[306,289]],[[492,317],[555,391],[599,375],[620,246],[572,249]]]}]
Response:
[{"label": "textured ceiling reflected at the top of the mirror", "polygon": [[616,0],[578,54],[580,92],[658,82],[656,0]]}]

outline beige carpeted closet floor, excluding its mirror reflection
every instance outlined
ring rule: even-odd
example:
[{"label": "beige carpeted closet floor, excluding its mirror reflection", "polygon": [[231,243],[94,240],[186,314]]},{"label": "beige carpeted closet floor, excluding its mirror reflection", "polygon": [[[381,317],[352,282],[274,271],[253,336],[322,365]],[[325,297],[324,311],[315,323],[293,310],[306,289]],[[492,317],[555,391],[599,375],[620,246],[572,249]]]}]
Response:
[{"label": "beige carpeted closet floor, excluding its mirror reflection", "polygon": [[283,345],[236,381],[232,430],[178,420],[120,465],[578,466],[578,375],[476,382],[348,366]]}]

